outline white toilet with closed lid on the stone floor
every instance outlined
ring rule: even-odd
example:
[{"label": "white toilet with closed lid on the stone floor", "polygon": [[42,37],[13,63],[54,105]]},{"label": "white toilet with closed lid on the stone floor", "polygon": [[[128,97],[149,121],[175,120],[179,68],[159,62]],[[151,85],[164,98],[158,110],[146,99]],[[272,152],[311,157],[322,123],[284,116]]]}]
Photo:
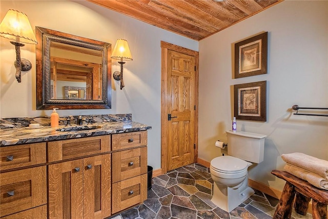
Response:
[{"label": "white toilet with closed lid on the stone floor", "polygon": [[214,181],[211,201],[222,210],[231,212],[254,194],[254,190],[248,186],[248,167],[263,161],[264,138],[267,135],[233,131],[226,133],[229,156],[219,156],[211,161],[210,172]]}]

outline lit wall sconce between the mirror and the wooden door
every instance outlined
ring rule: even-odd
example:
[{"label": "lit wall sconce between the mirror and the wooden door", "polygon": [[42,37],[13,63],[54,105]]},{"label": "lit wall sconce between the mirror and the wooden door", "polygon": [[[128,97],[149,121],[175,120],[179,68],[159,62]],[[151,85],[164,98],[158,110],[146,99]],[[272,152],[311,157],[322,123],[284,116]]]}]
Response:
[{"label": "lit wall sconce between the mirror and the wooden door", "polygon": [[126,39],[117,39],[111,58],[120,60],[118,63],[121,65],[121,71],[115,71],[113,73],[113,77],[116,81],[121,81],[120,89],[122,90],[122,88],[124,88],[123,64],[125,64],[123,61],[133,60],[128,41],[126,41]]}]

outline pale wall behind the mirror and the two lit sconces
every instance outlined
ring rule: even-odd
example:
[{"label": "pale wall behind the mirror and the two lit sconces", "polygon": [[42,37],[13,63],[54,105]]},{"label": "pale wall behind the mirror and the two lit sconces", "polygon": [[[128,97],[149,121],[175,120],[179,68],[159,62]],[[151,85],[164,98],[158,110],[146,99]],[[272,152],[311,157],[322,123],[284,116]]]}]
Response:
[{"label": "pale wall behind the mirror and the two lit sconces", "polygon": [[[112,44],[117,38],[129,42],[132,62],[124,65],[125,88],[112,79],[112,109],[58,110],[59,115],[132,113],[134,121],[152,126],[148,132],[148,164],[160,168],[160,41],[198,51],[198,42],[159,29],[131,17],[85,1],[0,1],[0,19],[8,9],[26,13],[35,26],[84,36]],[[40,42],[39,42],[40,43]],[[21,49],[33,65],[23,72],[22,83],[15,79],[14,47],[0,37],[0,117],[50,116],[51,110],[36,110],[35,46]],[[119,70],[113,60],[112,72]]]}]

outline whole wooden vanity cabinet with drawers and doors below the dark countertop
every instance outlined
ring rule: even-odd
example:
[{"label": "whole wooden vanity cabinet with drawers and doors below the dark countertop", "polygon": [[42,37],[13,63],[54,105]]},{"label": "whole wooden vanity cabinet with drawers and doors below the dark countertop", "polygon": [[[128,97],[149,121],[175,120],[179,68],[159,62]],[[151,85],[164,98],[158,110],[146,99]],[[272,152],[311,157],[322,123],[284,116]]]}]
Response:
[{"label": "whole wooden vanity cabinet with drawers and doors below the dark countertop", "polygon": [[147,131],[0,152],[1,219],[106,218],[147,199]]}]

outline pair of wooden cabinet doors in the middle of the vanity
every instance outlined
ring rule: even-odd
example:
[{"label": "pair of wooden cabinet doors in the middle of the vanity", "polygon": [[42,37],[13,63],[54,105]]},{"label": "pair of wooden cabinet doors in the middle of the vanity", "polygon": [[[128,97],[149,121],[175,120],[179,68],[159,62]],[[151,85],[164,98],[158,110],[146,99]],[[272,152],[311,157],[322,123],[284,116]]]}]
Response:
[{"label": "pair of wooden cabinet doors in the middle of the vanity", "polygon": [[110,215],[110,154],[49,165],[49,218]]}]

